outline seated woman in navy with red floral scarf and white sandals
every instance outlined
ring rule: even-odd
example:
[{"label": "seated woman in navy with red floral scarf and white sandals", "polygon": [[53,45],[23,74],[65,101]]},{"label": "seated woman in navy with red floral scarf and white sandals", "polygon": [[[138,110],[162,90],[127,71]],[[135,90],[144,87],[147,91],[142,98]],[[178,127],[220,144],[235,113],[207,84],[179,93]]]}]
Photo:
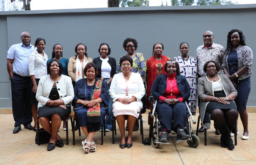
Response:
[{"label": "seated woman in navy with red floral scarf and white sandals", "polygon": [[108,84],[95,76],[97,72],[95,64],[86,64],[84,74],[87,78],[76,81],[72,101],[75,116],[87,137],[82,141],[83,150],[87,153],[96,150],[93,136],[103,124],[109,101]]}]

